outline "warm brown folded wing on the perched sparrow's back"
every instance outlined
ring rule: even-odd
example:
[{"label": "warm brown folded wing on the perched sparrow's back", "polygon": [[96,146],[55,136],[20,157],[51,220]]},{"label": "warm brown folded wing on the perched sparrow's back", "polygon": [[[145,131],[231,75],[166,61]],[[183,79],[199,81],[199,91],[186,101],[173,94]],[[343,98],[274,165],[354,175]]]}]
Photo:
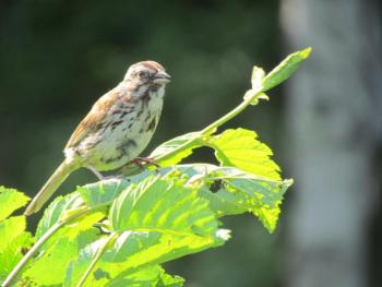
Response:
[{"label": "warm brown folded wing on the perched sparrow's back", "polygon": [[105,120],[110,109],[118,99],[118,91],[111,89],[106,95],[102,96],[92,107],[91,111],[80,122],[74,132],[69,139],[65,148],[77,146],[82,140],[88,134],[94,133],[99,129],[99,124]]}]

